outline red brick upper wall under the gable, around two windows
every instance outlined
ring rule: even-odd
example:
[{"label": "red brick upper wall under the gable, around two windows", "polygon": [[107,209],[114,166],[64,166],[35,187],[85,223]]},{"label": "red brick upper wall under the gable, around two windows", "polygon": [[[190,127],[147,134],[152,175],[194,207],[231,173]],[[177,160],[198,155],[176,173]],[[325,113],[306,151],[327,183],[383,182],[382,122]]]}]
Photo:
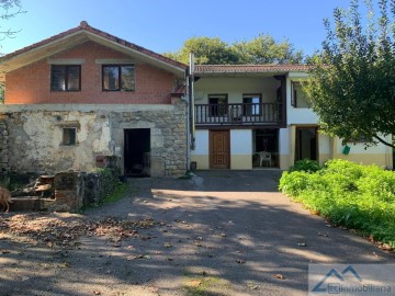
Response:
[{"label": "red brick upper wall under the gable, around two windows", "polygon": [[102,91],[101,65],[95,59],[128,56],[93,42],[87,42],[52,58],[84,59],[81,65],[81,91],[52,92],[50,65],[40,60],[7,73],[5,104],[102,103],[170,104],[174,76],[146,64],[135,64],[135,92]]}]

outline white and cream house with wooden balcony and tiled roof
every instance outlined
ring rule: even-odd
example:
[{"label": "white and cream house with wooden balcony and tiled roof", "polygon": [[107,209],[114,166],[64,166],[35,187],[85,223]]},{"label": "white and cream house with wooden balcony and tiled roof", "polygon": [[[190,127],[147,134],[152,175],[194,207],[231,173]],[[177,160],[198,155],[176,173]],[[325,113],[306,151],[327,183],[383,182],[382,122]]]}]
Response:
[{"label": "white and cream house with wooden balcony and tiled roof", "polygon": [[319,133],[301,84],[308,66],[195,65],[192,70],[191,161],[198,169],[286,170],[305,158],[393,166],[392,149],[384,145],[364,149],[361,141],[350,143],[347,151],[341,139]]}]

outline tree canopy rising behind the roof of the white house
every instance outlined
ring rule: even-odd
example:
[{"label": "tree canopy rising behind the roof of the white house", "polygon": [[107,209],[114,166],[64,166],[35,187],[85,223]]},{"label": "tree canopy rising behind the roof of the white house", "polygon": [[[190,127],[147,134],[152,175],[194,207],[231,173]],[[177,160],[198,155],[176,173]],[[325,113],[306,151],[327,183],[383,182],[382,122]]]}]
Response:
[{"label": "tree canopy rising behind the roof of the white house", "polygon": [[300,64],[303,53],[295,50],[287,41],[275,41],[268,34],[260,34],[251,41],[228,44],[219,37],[192,37],[174,53],[165,56],[181,62],[189,62],[190,53],[194,54],[195,64],[200,65],[238,65],[238,64]]}]

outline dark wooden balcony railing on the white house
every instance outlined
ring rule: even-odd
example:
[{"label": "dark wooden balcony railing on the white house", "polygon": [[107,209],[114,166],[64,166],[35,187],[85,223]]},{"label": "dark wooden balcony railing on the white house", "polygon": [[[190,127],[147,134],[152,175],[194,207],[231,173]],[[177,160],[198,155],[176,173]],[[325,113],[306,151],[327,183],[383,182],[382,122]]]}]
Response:
[{"label": "dark wooden balcony railing on the white house", "polygon": [[282,103],[195,104],[196,126],[268,125],[283,123]]}]

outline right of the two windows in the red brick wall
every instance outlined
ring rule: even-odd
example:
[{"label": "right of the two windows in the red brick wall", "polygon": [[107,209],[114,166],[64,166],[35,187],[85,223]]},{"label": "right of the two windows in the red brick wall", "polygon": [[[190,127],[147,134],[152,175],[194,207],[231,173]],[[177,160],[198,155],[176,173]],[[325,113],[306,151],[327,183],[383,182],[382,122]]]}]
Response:
[{"label": "right of the two windows in the red brick wall", "polygon": [[133,65],[103,66],[104,91],[135,91],[135,70]]}]

